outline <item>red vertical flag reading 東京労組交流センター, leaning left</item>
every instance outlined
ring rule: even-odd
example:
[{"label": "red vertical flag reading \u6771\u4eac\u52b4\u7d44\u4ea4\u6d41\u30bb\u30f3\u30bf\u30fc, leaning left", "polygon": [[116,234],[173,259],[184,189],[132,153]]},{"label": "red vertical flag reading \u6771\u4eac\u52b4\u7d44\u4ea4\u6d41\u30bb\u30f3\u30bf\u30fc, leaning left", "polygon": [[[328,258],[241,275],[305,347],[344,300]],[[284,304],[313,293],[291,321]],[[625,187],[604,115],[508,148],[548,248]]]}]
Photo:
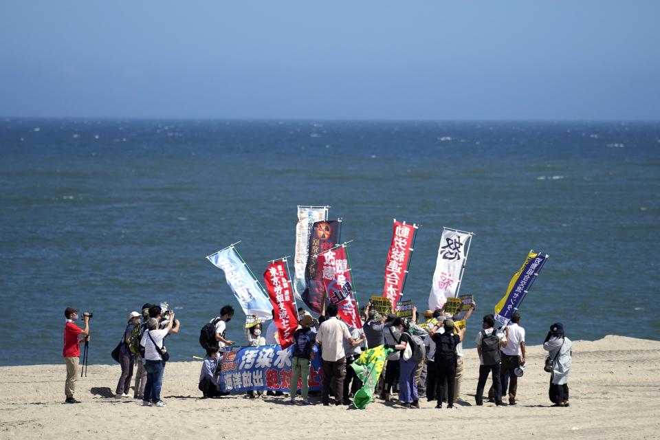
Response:
[{"label": "red vertical flag reading \u6771\u4eac\u52b4\u7d44\u4ea4\u6d41\u30bb\u30f3\u30bf\u30fc, leaning left", "polygon": [[270,302],[275,309],[274,320],[280,336],[280,345],[286,349],[293,344],[294,331],[298,328],[298,311],[284,261],[270,263],[263,273],[263,280],[266,283]]}]

